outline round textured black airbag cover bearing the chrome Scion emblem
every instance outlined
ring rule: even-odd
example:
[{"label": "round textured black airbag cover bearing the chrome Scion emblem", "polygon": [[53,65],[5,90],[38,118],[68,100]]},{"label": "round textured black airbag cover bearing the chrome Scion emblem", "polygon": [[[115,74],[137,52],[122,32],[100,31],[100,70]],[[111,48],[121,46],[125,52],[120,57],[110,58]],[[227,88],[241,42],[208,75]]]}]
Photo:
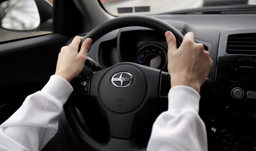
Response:
[{"label": "round textured black airbag cover bearing the chrome Scion emblem", "polygon": [[132,65],[119,65],[109,69],[99,84],[99,98],[112,112],[124,114],[142,104],[147,93],[144,74]]}]

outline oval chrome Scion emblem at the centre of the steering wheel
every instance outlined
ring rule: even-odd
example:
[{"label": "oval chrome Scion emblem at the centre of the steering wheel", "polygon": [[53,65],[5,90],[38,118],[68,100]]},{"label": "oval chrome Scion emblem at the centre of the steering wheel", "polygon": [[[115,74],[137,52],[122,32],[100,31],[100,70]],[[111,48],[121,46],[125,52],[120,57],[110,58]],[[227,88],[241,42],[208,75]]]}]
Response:
[{"label": "oval chrome Scion emblem at the centre of the steering wheel", "polygon": [[113,75],[111,82],[116,87],[127,87],[133,83],[133,76],[128,72],[119,72]]}]

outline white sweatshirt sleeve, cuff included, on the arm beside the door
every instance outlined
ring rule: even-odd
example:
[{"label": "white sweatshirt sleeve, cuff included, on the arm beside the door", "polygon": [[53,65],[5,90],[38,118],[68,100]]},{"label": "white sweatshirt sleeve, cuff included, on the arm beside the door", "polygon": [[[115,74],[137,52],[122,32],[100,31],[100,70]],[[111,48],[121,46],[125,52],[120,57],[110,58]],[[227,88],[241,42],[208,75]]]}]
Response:
[{"label": "white sweatshirt sleeve, cuff included, on the arm beside the door", "polygon": [[58,131],[58,116],[72,91],[65,79],[51,76],[41,91],[29,95],[0,125],[0,150],[41,150]]}]

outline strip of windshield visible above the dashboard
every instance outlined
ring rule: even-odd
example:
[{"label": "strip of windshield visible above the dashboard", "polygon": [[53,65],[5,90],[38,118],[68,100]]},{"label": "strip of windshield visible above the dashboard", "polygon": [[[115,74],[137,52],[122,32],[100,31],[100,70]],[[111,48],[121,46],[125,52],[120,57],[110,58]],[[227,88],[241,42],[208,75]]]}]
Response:
[{"label": "strip of windshield visible above the dashboard", "polygon": [[100,0],[104,9],[114,15],[152,15],[182,9],[209,6],[256,5],[256,0]]}]

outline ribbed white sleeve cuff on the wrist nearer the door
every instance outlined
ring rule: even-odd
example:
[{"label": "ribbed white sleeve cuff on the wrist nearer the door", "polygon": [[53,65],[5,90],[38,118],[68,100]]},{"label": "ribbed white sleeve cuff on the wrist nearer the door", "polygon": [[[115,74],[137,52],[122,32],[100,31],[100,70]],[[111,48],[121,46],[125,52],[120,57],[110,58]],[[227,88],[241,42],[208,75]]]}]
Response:
[{"label": "ribbed white sleeve cuff on the wrist nearer the door", "polygon": [[41,92],[59,104],[62,108],[68,100],[70,94],[73,92],[73,87],[64,78],[58,75],[52,75]]}]

